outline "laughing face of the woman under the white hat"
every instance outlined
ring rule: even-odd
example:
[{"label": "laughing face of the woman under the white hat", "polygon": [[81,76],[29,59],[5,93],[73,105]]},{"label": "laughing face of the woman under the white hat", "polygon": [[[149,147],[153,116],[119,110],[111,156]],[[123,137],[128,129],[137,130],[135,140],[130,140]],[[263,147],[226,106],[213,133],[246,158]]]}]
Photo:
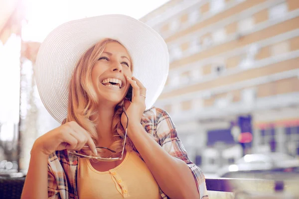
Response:
[{"label": "laughing face of the woman under the white hat", "polygon": [[132,78],[132,61],[127,49],[118,42],[106,44],[100,59],[92,69],[92,84],[100,103],[121,102],[130,87],[127,76]]}]

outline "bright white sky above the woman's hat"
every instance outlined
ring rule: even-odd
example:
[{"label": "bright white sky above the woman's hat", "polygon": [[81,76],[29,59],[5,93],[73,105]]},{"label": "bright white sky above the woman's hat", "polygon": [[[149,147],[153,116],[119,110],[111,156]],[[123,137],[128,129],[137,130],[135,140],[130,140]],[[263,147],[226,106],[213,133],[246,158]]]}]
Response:
[{"label": "bright white sky above the woman's hat", "polygon": [[59,24],[102,14],[126,14],[141,18],[169,0],[28,0],[29,24],[24,40],[42,41]]}]

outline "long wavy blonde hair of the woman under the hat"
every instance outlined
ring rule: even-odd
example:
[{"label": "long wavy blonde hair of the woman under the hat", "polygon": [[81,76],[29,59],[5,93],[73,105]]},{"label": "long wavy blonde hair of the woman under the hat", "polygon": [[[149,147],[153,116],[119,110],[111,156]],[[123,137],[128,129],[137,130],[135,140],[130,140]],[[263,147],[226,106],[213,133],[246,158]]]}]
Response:
[{"label": "long wavy blonde hair of the woman under the hat", "polygon": [[[67,118],[62,122],[66,123],[69,121],[76,121],[88,133],[90,133],[96,146],[98,145],[96,115],[98,111],[97,104],[99,101],[97,93],[92,84],[91,73],[93,66],[99,60],[106,44],[110,42],[117,42],[121,44],[119,41],[114,39],[103,39],[90,47],[77,62],[69,86],[68,114]],[[133,72],[133,64],[131,70]],[[122,152],[124,146],[125,130],[121,123],[123,106],[124,100],[116,105],[112,120],[112,132],[114,140],[109,146],[109,149],[112,149],[117,153]],[[129,137],[127,137],[126,140],[126,149],[135,149],[134,144]]]}]

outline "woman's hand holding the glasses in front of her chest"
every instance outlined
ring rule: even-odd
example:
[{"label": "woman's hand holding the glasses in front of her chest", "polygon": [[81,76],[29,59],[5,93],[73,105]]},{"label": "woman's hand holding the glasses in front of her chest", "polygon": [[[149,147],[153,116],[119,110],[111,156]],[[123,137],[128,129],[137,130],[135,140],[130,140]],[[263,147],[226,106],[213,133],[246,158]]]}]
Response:
[{"label": "woman's hand holding the glasses in front of her chest", "polygon": [[81,150],[86,144],[97,154],[96,145],[89,133],[77,122],[70,121],[37,138],[32,150],[37,148],[48,156],[64,149]]}]

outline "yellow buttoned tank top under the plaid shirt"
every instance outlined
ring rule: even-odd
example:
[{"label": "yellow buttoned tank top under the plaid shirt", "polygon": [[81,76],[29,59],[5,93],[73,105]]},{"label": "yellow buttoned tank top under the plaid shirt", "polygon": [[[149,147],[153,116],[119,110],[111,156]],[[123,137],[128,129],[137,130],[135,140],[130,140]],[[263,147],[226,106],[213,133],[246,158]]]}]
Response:
[{"label": "yellow buttoned tank top under the plaid shirt", "polygon": [[105,172],[79,158],[77,184],[79,199],[161,199],[149,168],[134,151],[127,151],[120,165]]}]

